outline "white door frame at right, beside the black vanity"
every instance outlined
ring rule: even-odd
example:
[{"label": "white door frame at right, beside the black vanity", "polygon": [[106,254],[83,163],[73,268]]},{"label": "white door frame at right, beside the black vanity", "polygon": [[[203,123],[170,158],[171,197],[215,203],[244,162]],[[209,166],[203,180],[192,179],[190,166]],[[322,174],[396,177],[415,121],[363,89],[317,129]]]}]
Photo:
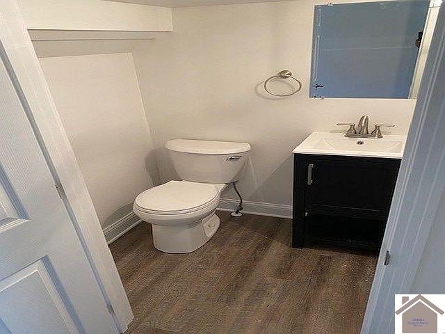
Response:
[{"label": "white door frame at right, beside the black vanity", "polygon": [[[394,294],[409,294],[445,191],[445,8],[432,38],[362,334],[393,333]],[[390,262],[385,266],[386,252]],[[421,293],[421,292],[419,292]]]}]

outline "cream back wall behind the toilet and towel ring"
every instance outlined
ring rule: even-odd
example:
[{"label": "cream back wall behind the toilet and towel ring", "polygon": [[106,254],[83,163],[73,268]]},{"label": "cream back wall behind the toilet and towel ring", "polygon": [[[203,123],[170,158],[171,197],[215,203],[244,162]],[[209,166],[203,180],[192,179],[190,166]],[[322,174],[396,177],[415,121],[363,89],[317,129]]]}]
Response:
[{"label": "cream back wall behind the toilet and towel ring", "polygon": [[[252,145],[240,182],[245,199],[290,205],[291,150],[311,132],[368,114],[372,125],[393,123],[394,134],[406,134],[414,100],[309,99],[313,11],[320,3],[176,8],[175,33],[133,51],[163,181],[177,177],[162,149],[168,139],[245,141]],[[301,92],[265,95],[263,81],[284,69],[302,81]]]}]

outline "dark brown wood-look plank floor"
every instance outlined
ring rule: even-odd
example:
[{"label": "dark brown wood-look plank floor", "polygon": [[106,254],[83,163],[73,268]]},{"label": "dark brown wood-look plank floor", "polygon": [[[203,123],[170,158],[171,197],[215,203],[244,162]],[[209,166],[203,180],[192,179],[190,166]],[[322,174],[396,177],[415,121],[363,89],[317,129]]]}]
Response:
[{"label": "dark brown wood-look plank floor", "polygon": [[135,319],[129,334],[358,334],[373,255],[289,247],[289,219],[218,212],[190,254],[153,247],[141,223],[111,245]]}]

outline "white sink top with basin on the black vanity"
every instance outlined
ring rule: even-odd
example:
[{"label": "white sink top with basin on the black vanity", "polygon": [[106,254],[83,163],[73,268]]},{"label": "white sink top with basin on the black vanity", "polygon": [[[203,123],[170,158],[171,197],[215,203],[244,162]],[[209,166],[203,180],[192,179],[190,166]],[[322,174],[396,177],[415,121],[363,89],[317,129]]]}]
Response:
[{"label": "white sink top with basin on the black vanity", "polygon": [[406,136],[348,138],[344,134],[313,132],[293,153],[350,155],[354,157],[398,158],[403,156]]}]

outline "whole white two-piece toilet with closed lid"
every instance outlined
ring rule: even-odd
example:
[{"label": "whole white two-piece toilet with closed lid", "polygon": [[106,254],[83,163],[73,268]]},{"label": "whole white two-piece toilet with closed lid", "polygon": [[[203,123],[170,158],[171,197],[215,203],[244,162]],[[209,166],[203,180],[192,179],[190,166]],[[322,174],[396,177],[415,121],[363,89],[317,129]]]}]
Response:
[{"label": "whole white two-piece toilet with closed lid", "polygon": [[243,177],[248,143],[174,139],[165,143],[182,181],[140,193],[133,211],[152,224],[154,247],[164,253],[191,253],[219,228],[215,214],[227,184]]}]

